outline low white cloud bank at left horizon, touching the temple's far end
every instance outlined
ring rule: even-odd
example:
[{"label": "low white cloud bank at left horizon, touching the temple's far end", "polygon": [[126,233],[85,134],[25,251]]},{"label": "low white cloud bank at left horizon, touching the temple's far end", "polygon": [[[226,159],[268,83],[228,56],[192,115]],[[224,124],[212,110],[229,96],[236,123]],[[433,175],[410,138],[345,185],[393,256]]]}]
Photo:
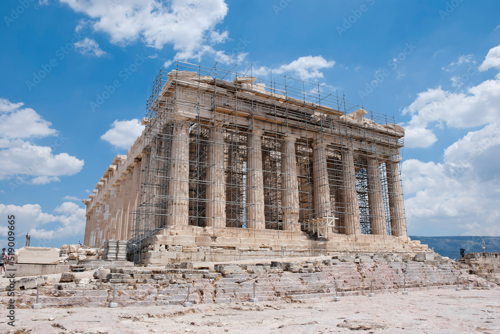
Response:
[{"label": "low white cloud bank at left horizon, touching the temple's far end", "polygon": [[[54,246],[54,239],[81,235],[85,229],[85,209],[72,202],[64,202],[53,210],[54,214],[45,213],[38,204],[23,206],[0,204],[0,216],[14,215],[17,235],[26,232],[43,243],[44,247]],[[0,237],[7,236],[6,226],[0,227]],[[19,240],[18,240],[19,241]],[[42,246],[42,245],[40,245]]]}]

